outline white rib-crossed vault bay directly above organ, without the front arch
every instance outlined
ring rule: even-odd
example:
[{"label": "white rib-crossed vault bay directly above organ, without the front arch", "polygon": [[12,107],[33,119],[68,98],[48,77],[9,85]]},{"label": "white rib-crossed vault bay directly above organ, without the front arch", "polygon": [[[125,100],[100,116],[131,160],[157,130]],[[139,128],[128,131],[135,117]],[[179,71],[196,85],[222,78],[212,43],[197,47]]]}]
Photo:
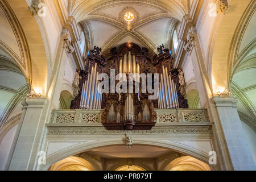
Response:
[{"label": "white rib-crossed vault bay directly above organ, without the front arch", "polygon": [[[127,23],[119,19],[119,13],[125,7],[133,7],[138,12],[138,19],[132,22],[131,28],[127,28]],[[162,6],[137,1],[99,3],[98,6],[85,12],[82,17],[82,21],[86,21],[82,23],[84,30],[89,30],[89,34],[92,35],[89,47],[101,47],[103,53],[127,42],[147,47],[152,54],[157,53],[157,47],[162,43],[170,48],[172,33],[170,30],[173,30],[178,22],[172,13]]]}]

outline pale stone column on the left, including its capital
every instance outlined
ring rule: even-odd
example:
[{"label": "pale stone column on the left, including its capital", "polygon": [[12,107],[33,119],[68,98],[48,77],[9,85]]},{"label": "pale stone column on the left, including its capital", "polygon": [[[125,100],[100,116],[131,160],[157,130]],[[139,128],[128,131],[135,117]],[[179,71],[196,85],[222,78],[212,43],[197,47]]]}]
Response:
[{"label": "pale stone column on the left, including its capital", "polygon": [[34,166],[47,112],[46,98],[23,98],[23,113],[15,134],[7,170],[28,170]]}]

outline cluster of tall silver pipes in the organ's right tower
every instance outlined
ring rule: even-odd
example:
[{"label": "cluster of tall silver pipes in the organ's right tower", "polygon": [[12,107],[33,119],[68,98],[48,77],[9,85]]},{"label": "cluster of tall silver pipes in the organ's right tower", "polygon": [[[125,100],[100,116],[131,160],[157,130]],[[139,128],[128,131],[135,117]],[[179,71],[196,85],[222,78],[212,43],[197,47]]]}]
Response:
[{"label": "cluster of tall silver pipes in the organ's right tower", "polygon": [[177,90],[174,80],[168,74],[168,69],[162,66],[163,73],[160,75],[158,108],[171,109],[179,108],[179,101],[177,98]]}]

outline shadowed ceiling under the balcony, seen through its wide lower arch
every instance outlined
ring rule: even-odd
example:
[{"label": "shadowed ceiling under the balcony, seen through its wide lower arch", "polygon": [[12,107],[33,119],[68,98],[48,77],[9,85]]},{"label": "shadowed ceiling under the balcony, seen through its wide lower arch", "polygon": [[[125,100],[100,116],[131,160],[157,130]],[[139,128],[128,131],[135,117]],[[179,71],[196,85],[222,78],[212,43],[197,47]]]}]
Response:
[{"label": "shadowed ceiling under the balcony, seen through its wide lower arch", "polygon": [[90,152],[105,158],[155,158],[171,152],[171,150],[162,147],[133,145],[131,148],[126,146],[101,147]]}]

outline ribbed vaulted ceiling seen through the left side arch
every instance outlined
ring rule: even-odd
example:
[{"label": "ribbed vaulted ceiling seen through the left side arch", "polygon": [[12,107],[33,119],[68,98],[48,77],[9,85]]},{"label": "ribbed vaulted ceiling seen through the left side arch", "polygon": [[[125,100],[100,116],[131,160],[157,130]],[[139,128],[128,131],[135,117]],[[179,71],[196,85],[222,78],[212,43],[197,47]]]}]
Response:
[{"label": "ribbed vaulted ceiling seen through the left side arch", "polygon": [[0,48],[0,130],[21,113],[20,100],[27,93],[27,81],[5,51]]}]

